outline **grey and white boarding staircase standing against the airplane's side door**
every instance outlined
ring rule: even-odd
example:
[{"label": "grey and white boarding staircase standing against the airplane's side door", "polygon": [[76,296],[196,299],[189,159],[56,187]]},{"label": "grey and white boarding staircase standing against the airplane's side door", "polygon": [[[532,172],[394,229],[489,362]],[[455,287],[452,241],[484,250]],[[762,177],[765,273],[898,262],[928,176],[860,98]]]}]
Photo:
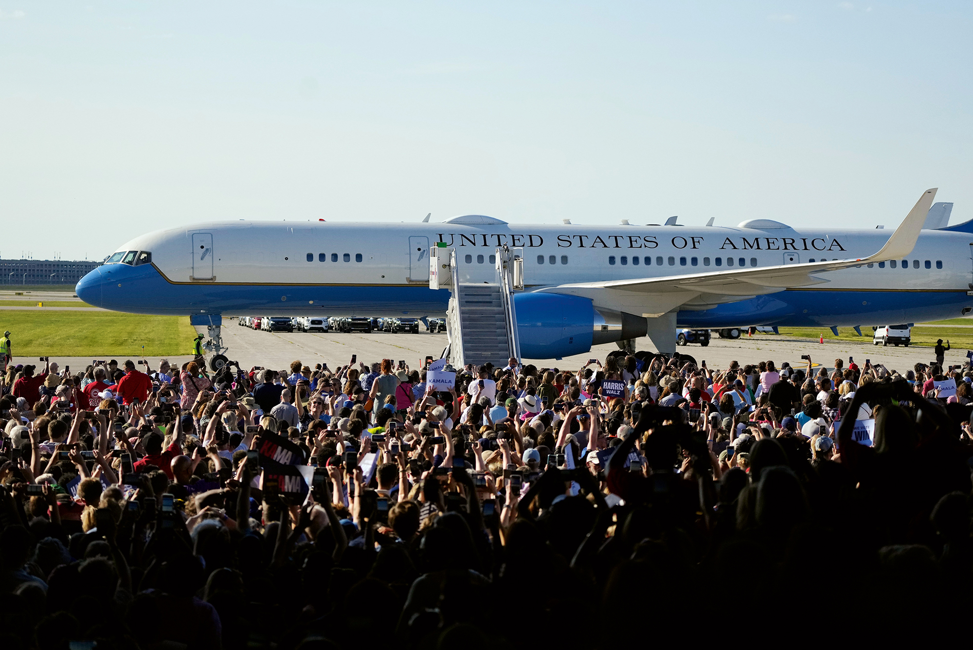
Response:
[{"label": "grey and white boarding staircase standing against the airplane's side door", "polygon": [[523,249],[497,248],[495,260],[493,281],[474,282],[470,272],[483,267],[460,264],[450,246],[430,251],[429,287],[451,293],[443,356],[453,368],[487,362],[503,368],[510,357],[521,359],[514,291],[523,290]]}]

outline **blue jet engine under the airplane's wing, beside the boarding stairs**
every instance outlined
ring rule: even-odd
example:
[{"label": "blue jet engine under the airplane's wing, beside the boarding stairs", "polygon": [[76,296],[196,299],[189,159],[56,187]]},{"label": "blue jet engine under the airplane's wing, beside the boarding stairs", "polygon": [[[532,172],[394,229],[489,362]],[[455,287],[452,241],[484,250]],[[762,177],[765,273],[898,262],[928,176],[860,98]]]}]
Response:
[{"label": "blue jet engine under the airplane's wing, beside the boarding stairs", "polygon": [[644,337],[648,321],[631,313],[596,309],[588,298],[553,293],[514,296],[521,355],[561,359],[592,345]]}]

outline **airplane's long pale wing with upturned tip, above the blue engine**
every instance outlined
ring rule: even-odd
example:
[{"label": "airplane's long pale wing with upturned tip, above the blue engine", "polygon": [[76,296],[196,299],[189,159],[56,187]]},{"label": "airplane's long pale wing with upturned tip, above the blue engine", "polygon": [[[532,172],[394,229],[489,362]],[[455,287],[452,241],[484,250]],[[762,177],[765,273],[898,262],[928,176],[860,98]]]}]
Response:
[{"label": "airplane's long pale wing with upturned tip, above the blue engine", "polygon": [[[616,298],[620,293],[627,293],[629,296],[627,300],[623,301],[624,303],[631,303],[632,299],[635,299],[635,296],[631,294],[652,294],[651,301],[653,303],[656,303],[657,299],[662,299],[661,302],[667,304],[668,308],[671,309],[700,294],[753,296],[773,293],[789,287],[820,284],[827,282],[827,280],[815,277],[813,273],[839,271],[850,267],[859,267],[863,264],[902,259],[909,255],[919,239],[919,231],[922,230],[929,207],[936,197],[937,189],[933,188],[922,193],[919,201],[906,215],[902,224],[888,237],[888,241],[885,242],[882,249],[866,258],[786,264],[774,267],[738,268],[728,271],[687,273],[664,277],[580,282],[546,287],[540,291],[586,296],[595,300],[596,303],[599,302],[596,296],[600,292],[614,294]],[[665,294],[676,295],[664,296]],[[645,298],[648,298],[648,296]],[[637,311],[634,313],[637,313]]]}]

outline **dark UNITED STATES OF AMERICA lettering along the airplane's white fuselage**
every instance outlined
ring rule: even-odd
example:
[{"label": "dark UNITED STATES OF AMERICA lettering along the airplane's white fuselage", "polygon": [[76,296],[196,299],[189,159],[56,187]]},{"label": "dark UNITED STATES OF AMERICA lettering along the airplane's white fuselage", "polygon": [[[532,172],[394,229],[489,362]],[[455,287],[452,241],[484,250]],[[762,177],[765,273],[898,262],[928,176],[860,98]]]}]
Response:
[{"label": "dark UNITED STATES OF AMERICA lettering along the airplane's white fuselage", "polygon": [[[541,235],[457,235],[439,233],[439,240],[448,246],[478,246],[496,248],[512,247],[536,248],[544,245]],[[659,248],[656,235],[558,235],[558,248]],[[702,236],[676,235],[664,246],[682,250],[696,250],[703,245]],[[841,250],[845,247],[834,237],[724,237],[720,250]]]}]

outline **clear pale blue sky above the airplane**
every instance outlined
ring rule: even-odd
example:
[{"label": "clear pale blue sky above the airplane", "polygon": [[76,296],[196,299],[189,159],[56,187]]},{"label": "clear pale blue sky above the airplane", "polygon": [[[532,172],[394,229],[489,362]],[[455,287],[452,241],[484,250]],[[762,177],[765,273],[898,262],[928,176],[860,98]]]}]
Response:
[{"label": "clear pale blue sky above the airplane", "polygon": [[973,217],[973,5],[0,0],[0,255],[209,219]]}]

